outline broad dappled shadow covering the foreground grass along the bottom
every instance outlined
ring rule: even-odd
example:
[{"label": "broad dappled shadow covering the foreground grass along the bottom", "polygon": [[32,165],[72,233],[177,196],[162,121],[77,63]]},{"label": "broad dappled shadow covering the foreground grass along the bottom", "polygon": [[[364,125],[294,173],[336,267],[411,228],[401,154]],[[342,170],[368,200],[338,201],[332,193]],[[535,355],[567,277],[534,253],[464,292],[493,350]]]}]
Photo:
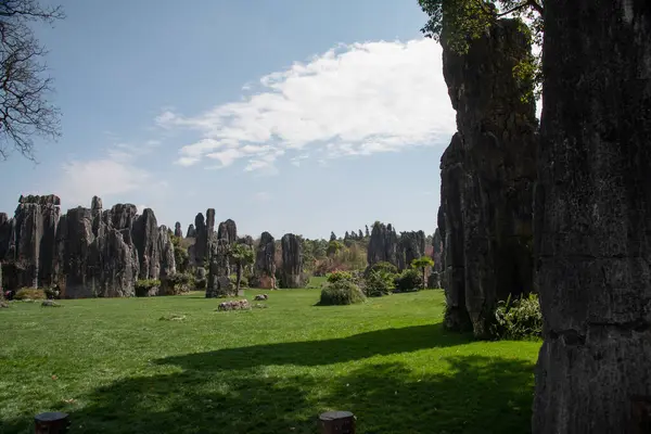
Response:
[{"label": "broad dappled shadow covering the foreground grass along the bottom", "polygon": [[[127,378],[80,397],[71,433],[311,434],[330,409],[353,411],[360,434],[529,431],[532,363],[480,356],[437,362],[447,365],[445,374],[385,362],[343,376],[187,369]],[[28,425],[14,421],[4,432]]]}]

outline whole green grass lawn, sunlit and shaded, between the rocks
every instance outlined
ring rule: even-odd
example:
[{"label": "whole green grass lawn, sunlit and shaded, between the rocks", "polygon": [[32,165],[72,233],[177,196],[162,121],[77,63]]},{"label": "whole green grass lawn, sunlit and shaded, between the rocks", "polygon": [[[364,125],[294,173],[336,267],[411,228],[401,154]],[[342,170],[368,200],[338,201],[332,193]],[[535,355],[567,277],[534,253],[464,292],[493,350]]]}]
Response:
[{"label": "whole green grass lawn, sunlit and shaded, between the rocks", "polygon": [[[246,291],[246,296],[260,291]],[[317,307],[318,290],[215,311],[176,297],[14,303],[0,309],[0,433],[41,411],[71,433],[526,433],[537,342],[446,332],[442,291]],[[177,314],[182,321],[161,320]]]}]

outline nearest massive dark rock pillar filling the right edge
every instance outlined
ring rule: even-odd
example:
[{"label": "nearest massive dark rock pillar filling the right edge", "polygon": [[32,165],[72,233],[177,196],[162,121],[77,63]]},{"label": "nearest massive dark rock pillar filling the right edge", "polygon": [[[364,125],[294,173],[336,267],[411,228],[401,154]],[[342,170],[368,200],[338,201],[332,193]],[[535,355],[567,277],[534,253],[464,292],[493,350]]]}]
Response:
[{"label": "nearest massive dark rock pillar filling the right edge", "polygon": [[545,8],[533,432],[649,432],[651,3]]}]

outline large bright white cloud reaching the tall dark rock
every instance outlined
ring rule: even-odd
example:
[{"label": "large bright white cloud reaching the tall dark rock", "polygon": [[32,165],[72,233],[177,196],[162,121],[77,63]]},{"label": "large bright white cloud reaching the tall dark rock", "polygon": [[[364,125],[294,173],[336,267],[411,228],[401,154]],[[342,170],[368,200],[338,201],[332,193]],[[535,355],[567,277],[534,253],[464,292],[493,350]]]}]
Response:
[{"label": "large bright white cloud reaching the tall dark rock", "polygon": [[441,47],[430,39],[341,44],[261,77],[242,101],[196,116],[165,111],[156,124],[196,131],[177,164],[246,158],[246,171],[269,170],[289,149],[324,149],[333,158],[445,145],[456,123],[441,71]]}]

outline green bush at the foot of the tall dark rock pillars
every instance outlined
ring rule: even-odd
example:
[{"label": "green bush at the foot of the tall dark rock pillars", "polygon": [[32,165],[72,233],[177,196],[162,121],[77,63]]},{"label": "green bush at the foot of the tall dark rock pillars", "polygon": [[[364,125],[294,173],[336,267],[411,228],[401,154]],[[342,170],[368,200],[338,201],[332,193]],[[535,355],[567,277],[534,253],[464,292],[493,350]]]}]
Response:
[{"label": "green bush at the foot of the tall dark rock pillars", "polygon": [[495,309],[493,334],[500,340],[531,340],[542,336],[542,312],[536,294],[507,298]]}]

